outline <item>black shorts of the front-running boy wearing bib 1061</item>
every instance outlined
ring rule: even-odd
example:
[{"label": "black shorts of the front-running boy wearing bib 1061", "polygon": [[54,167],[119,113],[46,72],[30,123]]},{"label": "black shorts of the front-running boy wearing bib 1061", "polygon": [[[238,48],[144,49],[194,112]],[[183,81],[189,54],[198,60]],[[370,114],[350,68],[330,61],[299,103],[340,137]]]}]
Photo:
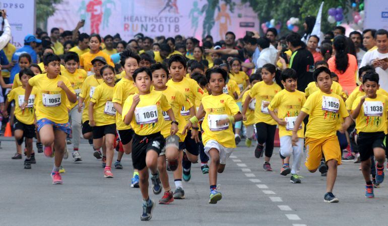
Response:
[{"label": "black shorts of the front-running boy wearing bib 1061", "polygon": [[149,150],[154,150],[158,155],[164,149],[165,139],[160,132],[147,136],[134,134],[132,141],[132,164],[137,170],[146,167],[146,156]]}]

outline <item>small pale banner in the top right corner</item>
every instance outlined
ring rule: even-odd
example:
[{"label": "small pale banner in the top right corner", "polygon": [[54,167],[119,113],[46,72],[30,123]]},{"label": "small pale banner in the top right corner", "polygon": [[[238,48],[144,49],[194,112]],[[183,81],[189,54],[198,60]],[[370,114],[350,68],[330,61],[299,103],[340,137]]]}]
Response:
[{"label": "small pale banner in the top right corner", "polygon": [[388,30],[388,1],[365,0],[364,29]]}]

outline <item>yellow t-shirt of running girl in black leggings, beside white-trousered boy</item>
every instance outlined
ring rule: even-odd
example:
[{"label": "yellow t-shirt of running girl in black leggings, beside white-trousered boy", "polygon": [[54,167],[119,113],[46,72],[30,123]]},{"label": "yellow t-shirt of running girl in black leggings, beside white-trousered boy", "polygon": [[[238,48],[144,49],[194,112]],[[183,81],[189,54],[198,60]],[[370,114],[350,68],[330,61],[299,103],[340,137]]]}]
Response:
[{"label": "yellow t-shirt of running girl in black leggings, beside white-trousered boy", "polygon": [[264,81],[261,81],[253,85],[249,95],[256,99],[254,108],[255,123],[266,123],[268,125],[277,124],[270,116],[268,106],[265,107],[264,104],[269,104],[280,90],[282,90],[282,88],[275,82],[272,85],[267,85]]}]

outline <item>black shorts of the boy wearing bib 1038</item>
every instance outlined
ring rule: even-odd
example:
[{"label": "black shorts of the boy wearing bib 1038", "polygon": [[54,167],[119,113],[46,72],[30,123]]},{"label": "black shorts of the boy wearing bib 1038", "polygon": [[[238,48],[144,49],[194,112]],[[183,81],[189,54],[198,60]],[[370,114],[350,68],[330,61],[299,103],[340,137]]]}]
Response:
[{"label": "black shorts of the boy wearing bib 1038", "polygon": [[374,148],[385,148],[385,134],[383,132],[376,133],[358,133],[357,137],[358,151],[361,161],[368,160],[373,156]]}]

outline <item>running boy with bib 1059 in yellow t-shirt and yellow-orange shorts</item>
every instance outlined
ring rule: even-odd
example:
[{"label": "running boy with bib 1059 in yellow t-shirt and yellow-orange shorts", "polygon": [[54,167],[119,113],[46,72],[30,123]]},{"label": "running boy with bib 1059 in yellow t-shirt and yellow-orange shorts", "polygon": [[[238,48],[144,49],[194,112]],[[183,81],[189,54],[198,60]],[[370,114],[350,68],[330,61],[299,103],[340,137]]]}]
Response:
[{"label": "running boy with bib 1059 in yellow t-shirt and yellow-orange shorts", "polygon": [[326,67],[320,67],[313,72],[313,78],[319,87],[319,91],[311,94],[304,103],[299,116],[295,121],[292,131],[292,145],[298,142],[298,128],[302,121],[309,115],[307,130],[305,133],[306,162],[310,172],[318,169],[322,153],[329,171],[327,175],[325,202],[338,202],[338,198],[332,193],[337,177],[337,165],[341,164],[341,149],[336,136],[338,119],[345,118],[342,125],[342,133],[349,127],[352,119],[346,110],[344,100],[331,92],[331,71]]}]

